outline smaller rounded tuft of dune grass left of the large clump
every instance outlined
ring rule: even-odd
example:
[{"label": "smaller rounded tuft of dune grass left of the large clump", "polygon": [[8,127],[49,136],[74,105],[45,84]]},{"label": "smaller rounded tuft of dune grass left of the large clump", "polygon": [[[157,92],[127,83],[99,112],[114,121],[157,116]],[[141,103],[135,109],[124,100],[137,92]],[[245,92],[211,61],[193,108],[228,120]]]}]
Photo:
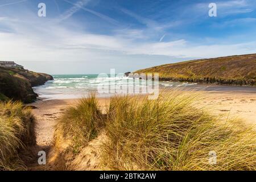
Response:
[{"label": "smaller rounded tuft of dune grass left of the large clump", "polygon": [[77,105],[65,110],[57,121],[55,142],[69,140],[72,142],[73,152],[78,153],[104,127],[104,115],[98,108],[98,101],[91,94],[89,98],[81,98]]}]

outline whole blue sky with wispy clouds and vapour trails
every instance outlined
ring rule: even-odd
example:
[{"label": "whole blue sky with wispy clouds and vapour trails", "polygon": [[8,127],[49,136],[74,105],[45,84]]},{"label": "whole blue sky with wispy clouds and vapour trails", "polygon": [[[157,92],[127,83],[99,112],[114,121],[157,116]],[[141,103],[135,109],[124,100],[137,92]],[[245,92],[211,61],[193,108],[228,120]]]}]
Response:
[{"label": "whole blue sky with wispy clouds and vapour trails", "polygon": [[36,72],[123,73],[255,48],[255,0],[0,0],[0,60]]}]

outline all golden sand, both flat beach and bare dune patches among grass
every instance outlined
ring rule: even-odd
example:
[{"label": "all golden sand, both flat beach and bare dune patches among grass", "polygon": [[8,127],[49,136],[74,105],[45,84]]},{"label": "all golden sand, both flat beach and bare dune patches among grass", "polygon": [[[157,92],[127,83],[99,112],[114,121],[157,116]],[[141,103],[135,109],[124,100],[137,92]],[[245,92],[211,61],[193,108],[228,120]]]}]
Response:
[{"label": "all golden sand, both flat beach and bare dune patches among grass", "polygon": [[[195,94],[198,92],[197,90],[202,90],[200,86],[197,85],[197,88],[192,92]],[[203,99],[200,100],[198,106],[207,109],[213,115],[220,115],[220,122],[226,120],[226,118],[241,118],[242,122],[247,126],[256,126],[256,92],[254,92],[255,88],[246,88],[246,87],[220,87],[217,86],[218,90],[216,90],[216,86],[208,86],[204,88],[204,92],[202,93]],[[185,88],[187,89],[187,88]],[[189,88],[191,89],[191,88]],[[242,90],[241,90],[242,89]],[[171,92],[171,90],[162,89],[161,94],[165,94],[166,92]],[[199,91],[201,94],[201,91]],[[110,98],[97,98],[101,110],[104,112],[106,107],[109,105]],[[55,150],[53,143],[55,126],[57,123],[57,118],[61,116],[62,113],[65,112],[65,109],[69,106],[75,106],[76,103],[79,102],[79,99],[63,99],[63,100],[39,100],[38,102],[34,102],[29,104],[30,106],[35,106],[36,109],[32,109],[32,114],[34,114],[36,119],[36,143],[37,146],[34,147],[33,154],[36,156],[38,151],[46,151],[49,154],[50,158],[55,159]],[[105,134],[102,133],[99,135],[100,138],[105,138]],[[92,140],[88,147],[83,149],[82,159],[77,158],[71,165],[75,165],[74,169],[81,170],[97,170],[98,168],[98,158],[100,156],[100,144],[99,138]],[[86,155],[85,155],[86,154]],[[83,156],[85,155],[86,158]],[[81,161],[82,162],[81,162]],[[57,164],[61,164],[57,162]],[[55,165],[55,164],[54,164]],[[47,169],[55,170],[62,169],[58,167],[48,166]],[[38,168],[37,160],[32,158],[27,163],[28,169],[30,170],[38,170],[42,168]]]}]

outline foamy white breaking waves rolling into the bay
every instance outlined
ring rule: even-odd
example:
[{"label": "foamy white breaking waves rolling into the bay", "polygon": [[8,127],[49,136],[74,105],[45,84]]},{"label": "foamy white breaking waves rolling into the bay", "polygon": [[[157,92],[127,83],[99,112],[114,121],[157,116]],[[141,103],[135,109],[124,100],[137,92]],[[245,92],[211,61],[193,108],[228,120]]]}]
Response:
[{"label": "foamy white breaking waves rolling into the bay", "polygon": [[[146,88],[147,83],[143,80],[134,80],[130,77],[92,77],[92,76],[77,76],[77,77],[67,77],[59,76],[55,77],[55,80],[48,81],[42,86],[34,87],[35,92],[44,96],[55,97],[56,94],[59,96],[74,97],[74,95],[80,96],[81,94],[89,93],[90,91],[97,90],[98,87],[104,90],[109,90],[113,88],[114,85],[116,89],[121,87],[133,88],[133,86],[139,86],[139,88]],[[171,81],[160,81],[159,85],[164,87],[171,86],[187,86],[195,85],[195,83],[180,83],[180,82],[171,82]]]}]

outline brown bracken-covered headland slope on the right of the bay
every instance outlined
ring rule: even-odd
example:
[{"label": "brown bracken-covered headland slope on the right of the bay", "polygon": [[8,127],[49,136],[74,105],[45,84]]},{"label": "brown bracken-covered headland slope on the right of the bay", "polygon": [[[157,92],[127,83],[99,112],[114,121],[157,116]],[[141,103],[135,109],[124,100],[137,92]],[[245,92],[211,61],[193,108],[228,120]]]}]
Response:
[{"label": "brown bracken-covered headland slope on the right of the bay", "polygon": [[256,54],[164,64],[135,73],[159,73],[162,81],[256,86]]}]

